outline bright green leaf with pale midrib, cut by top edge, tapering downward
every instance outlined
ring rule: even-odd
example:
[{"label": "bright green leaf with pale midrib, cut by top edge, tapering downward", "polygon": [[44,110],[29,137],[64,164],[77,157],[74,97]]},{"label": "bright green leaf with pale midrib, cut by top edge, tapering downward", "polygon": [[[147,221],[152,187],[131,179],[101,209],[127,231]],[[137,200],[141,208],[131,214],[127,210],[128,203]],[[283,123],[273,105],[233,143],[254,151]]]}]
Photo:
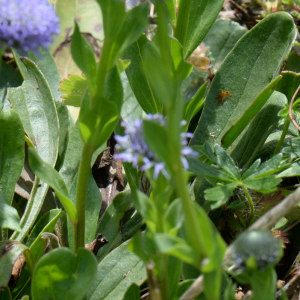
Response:
[{"label": "bright green leaf with pale midrib, cut by top edge, tapering downward", "polygon": [[175,37],[183,46],[183,56],[187,59],[203,41],[215,22],[224,0],[186,0],[178,7]]}]

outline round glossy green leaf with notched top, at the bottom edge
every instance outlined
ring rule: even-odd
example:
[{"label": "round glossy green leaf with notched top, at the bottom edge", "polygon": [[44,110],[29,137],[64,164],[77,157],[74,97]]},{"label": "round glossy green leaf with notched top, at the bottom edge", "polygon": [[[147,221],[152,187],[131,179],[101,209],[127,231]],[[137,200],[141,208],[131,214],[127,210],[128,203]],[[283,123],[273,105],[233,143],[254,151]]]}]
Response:
[{"label": "round glossy green leaf with notched top, at the bottom edge", "polygon": [[32,299],[81,300],[93,284],[96,272],[97,261],[89,250],[79,249],[74,254],[67,248],[54,249],[36,264]]}]

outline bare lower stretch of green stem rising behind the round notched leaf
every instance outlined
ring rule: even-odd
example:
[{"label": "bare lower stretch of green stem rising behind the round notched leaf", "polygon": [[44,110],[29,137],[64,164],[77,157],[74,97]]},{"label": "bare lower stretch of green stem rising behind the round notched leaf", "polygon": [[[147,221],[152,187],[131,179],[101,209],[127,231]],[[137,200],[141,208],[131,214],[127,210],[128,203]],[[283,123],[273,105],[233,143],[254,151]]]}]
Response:
[{"label": "bare lower stretch of green stem rising behind the round notched leaf", "polygon": [[78,172],[77,188],[76,188],[76,211],[77,223],[74,226],[74,248],[75,253],[78,248],[85,245],[85,206],[86,192],[88,185],[88,177],[90,173],[90,162],[94,152],[94,147],[84,144],[81,161]]}]

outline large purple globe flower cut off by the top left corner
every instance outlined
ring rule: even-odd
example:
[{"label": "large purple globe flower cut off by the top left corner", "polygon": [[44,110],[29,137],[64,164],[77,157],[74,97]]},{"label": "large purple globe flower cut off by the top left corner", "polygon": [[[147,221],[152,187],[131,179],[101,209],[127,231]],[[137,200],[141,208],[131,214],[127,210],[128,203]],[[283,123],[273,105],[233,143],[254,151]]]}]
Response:
[{"label": "large purple globe flower cut off by the top left corner", "polygon": [[0,41],[23,51],[47,47],[59,19],[47,0],[0,0]]}]

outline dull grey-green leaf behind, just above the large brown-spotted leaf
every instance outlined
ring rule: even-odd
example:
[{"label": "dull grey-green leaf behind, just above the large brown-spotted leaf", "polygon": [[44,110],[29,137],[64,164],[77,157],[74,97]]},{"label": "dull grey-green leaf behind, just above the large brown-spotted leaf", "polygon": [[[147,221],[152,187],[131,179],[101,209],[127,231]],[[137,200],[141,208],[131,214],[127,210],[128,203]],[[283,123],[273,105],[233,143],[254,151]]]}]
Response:
[{"label": "dull grey-green leaf behind, just above the large brown-spotted leaf", "polygon": [[217,19],[203,43],[209,46],[213,70],[218,70],[227,54],[248,30],[230,19]]}]

